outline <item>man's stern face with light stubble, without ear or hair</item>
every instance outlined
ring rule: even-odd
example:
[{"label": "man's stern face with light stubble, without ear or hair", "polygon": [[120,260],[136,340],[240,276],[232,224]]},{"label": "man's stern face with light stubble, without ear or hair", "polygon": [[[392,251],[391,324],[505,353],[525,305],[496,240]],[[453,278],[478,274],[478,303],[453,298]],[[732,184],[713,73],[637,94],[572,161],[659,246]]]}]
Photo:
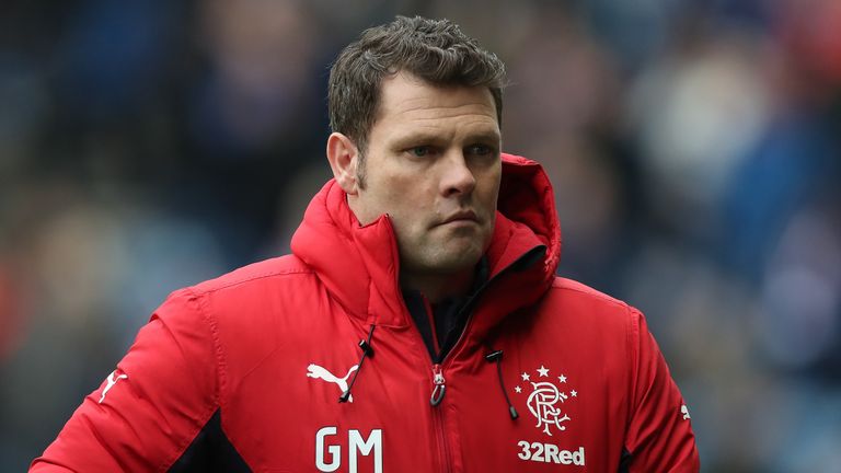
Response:
[{"label": "man's stern face with light stubble, without ear or hair", "polygon": [[391,217],[403,272],[472,270],[491,242],[502,176],[491,92],[398,73],[380,93],[352,208],[362,224]]}]

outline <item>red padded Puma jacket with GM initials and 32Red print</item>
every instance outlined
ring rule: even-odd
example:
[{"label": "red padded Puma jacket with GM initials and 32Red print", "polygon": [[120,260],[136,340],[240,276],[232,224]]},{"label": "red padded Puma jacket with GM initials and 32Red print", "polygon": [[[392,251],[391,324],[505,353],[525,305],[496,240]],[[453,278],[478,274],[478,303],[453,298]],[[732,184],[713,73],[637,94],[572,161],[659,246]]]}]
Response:
[{"label": "red padded Puma jacket with GM initials and 32Red print", "polygon": [[503,159],[488,287],[439,366],[390,220],[331,181],[292,255],[174,292],[31,471],[696,472],[645,319],[555,277],[549,180]]}]

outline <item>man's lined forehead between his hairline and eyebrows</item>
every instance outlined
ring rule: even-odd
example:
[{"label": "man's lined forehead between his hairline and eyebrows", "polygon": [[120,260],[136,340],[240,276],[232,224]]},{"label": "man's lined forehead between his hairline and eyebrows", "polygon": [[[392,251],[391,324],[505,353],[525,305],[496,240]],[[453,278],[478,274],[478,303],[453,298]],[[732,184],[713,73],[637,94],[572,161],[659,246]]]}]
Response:
[{"label": "man's lined forehead between his hairline and eyebrows", "polygon": [[[434,85],[405,72],[384,78],[373,128],[468,127],[499,134],[486,86]],[[372,129],[373,131],[373,129]]]}]

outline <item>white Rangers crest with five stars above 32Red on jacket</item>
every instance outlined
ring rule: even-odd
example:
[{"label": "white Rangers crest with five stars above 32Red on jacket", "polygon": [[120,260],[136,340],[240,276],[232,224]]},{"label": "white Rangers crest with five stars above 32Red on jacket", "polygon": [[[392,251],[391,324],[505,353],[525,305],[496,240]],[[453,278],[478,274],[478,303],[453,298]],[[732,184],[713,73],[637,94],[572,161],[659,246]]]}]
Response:
[{"label": "white Rangers crest with five stars above 32Red on jacket", "polygon": [[534,427],[543,434],[552,435],[552,430],[566,430],[564,423],[571,420],[565,404],[575,402],[578,392],[567,382],[563,373],[552,373],[543,365],[533,372],[523,372],[514,387],[515,399],[526,402],[531,415],[537,419]]}]

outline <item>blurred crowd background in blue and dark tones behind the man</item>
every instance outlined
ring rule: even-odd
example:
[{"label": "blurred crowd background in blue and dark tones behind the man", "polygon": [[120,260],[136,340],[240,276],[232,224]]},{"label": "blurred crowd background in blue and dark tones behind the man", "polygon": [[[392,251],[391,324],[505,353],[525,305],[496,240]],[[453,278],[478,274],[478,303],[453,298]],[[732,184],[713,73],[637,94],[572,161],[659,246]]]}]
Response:
[{"label": "blurred crowd background in blue and dark tones behind the man", "polygon": [[838,0],[4,0],[0,471],[170,291],[288,251],[329,65],[395,14],[506,61],[560,274],[645,311],[703,471],[841,472]]}]

